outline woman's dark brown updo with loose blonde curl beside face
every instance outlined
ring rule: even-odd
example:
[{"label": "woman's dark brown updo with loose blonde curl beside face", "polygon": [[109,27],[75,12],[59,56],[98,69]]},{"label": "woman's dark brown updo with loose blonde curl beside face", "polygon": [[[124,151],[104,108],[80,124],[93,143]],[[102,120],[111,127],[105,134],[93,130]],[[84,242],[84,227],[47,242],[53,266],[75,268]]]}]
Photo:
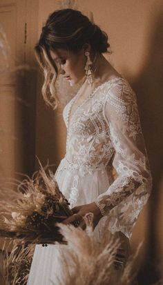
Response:
[{"label": "woman's dark brown updo with loose blonde curl beside face", "polygon": [[[35,46],[35,53],[41,68],[44,70],[42,94],[46,104],[57,108],[59,98],[55,92],[55,81],[58,68],[50,50],[63,48],[72,52],[79,51],[84,43],[90,43],[97,53],[108,52],[110,44],[106,32],[91,23],[88,17],[73,9],[55,10],[42,28],[41,36]],[[111,53],[111,52],[108,52]]]}]

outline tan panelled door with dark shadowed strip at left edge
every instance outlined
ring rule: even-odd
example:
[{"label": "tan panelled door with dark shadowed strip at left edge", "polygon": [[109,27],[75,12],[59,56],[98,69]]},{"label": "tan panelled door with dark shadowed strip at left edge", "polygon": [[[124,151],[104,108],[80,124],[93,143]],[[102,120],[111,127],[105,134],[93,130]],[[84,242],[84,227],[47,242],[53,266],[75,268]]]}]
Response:
[{"label": "tan panelled door with dark shadowed strip at left edge", "polygon": [[37,0],[0,1],[0,177],[35,167],[36,8]]}]

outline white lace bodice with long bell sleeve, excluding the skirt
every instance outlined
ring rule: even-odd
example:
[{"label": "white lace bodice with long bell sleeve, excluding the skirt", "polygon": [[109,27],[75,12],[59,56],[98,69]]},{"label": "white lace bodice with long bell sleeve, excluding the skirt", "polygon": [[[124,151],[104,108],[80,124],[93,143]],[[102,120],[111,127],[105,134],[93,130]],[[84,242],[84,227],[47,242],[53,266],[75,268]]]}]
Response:
[{"label": "white lace bodice with long bell sleeve, excluding the skirt", "polygon": [[116,77],[95,88],[70,118],[77,96],[64,108],[66,159],[84,171],[113,161],[117,178],[95,203],[103,215],[120,210],[117,222],[123,224],[125,217],[125,226],[132,228],[151,191],[135,92],[126,79]]}]

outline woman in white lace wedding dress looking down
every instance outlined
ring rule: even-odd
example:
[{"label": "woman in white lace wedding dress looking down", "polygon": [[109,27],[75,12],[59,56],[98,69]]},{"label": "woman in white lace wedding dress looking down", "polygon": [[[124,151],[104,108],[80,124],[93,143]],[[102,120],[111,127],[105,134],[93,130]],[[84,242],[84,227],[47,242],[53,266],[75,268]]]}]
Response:
[{"label": "woman in white lace wedding dress looking down", "polygon": [[[42,92],[47,104],[57,107],[55,80],[59,72],[70,85],[81,83],[64,108],[66,155],[55,178],[73,208],[65,223],[94,214],[100,232],[106,217],[109,230],[120,237],[124,262],[128,238],[151,191],[151,173],[140,126],[135,93],[105,59],[109,48],[105,32],[81,12],[53,12],[44,26],[36,54],[44,69]],[[114,180],[111,166],[117,171]],[[36,246],[28,285],[57,285],[61,264],[56,245]]]}]

